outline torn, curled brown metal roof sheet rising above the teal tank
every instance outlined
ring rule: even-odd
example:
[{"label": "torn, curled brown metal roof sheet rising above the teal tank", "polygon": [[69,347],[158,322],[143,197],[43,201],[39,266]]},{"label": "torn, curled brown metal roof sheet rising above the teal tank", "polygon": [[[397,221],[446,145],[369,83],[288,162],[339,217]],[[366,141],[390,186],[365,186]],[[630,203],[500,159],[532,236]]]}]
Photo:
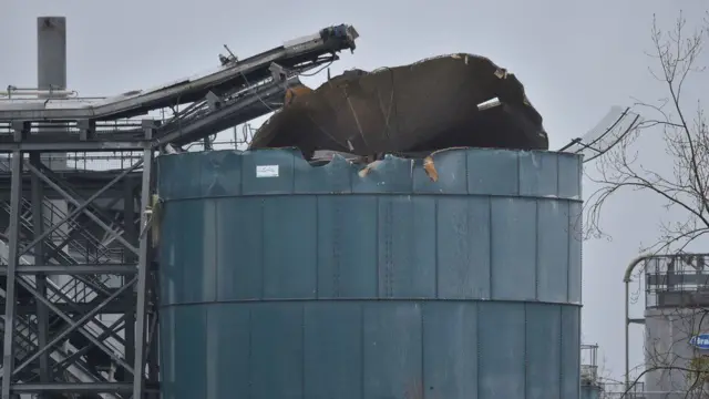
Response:
[{"label": "torn, curled brown metal roof sheet rising above the teal tank", "polygon": [[353,70],[316,90],[290,89],[251,149],[299,147],[369,156],[454,147],[547,150],[542,116],[514,74],[453,54],[373,72]]}]

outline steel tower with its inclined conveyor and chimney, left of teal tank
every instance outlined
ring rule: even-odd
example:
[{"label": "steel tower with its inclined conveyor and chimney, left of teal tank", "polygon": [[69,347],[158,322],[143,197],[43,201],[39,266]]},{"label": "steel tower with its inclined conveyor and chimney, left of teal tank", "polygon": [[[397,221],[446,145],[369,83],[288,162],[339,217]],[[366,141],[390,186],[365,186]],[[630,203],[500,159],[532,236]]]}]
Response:
[{"label": "steel tower with its inclined conveyor and chimney, left of teal tank", "polygon": [[299,73],[353,50],[357,35],[330,27],[220,57],[203,76],[96,100],[66,89],[65,20],[38,19],[38,88],[0,92],[2,399],[157,398],[154,156],[208,149],[213,134],[279,109]]}]

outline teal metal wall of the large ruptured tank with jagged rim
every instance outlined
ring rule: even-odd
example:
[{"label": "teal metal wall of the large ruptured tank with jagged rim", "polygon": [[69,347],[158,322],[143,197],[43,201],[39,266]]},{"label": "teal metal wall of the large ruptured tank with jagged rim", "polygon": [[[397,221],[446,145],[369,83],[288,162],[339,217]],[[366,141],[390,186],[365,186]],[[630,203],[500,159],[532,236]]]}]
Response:
[{"label": "teal metal wall of the large ruptured tank with jagged rim", "polygon": [[577,399],[580,158],[433,165],[160,157],[163,397]]}]

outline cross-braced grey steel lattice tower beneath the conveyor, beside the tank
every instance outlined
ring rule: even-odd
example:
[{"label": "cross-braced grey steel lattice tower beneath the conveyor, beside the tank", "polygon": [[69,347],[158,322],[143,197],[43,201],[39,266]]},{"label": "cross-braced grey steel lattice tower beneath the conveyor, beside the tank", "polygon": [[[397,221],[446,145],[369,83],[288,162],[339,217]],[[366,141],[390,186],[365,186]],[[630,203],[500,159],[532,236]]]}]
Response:
[{"label": "cross-braced grey steel lattice tower beneath the conveyor, beside the tank", "polygon": [[[133,144],[142,158],[131,167],[73,173],[84,174],[74,184],[94,180],[91,195],[45,165],[45,152],[56,151],[52,143],[11,152],[0,244],[7,254],[0,268],[3,399],[143,398],[157,391],[157,278],[150,234],[141,234],[150,223],[155,126],[144,121],[144,137]],[[32,143],[27,131],[14,139],[20,147]],[[62,149],[71,147],[69,137],[59,139]],[[78,147],[105,151],[93,144]]]}]

